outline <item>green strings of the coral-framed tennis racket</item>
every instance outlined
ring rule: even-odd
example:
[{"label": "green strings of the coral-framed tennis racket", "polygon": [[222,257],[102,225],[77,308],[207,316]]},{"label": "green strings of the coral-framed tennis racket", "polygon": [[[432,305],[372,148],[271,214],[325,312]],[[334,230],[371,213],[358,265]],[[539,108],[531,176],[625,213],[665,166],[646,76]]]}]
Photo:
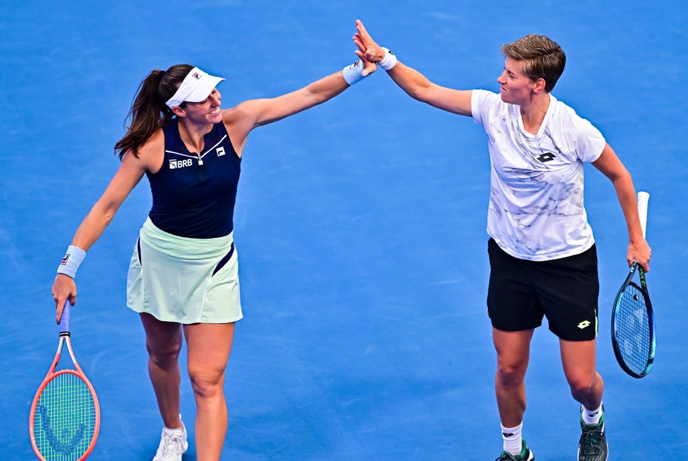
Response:
[{"label": "green strings of the coral-framed tennis racket", "polygon": [[36,447],[45,460],[76,461],[94,437],[91,390],[76,374],[58,374],[45,385],[34,416]]}]

